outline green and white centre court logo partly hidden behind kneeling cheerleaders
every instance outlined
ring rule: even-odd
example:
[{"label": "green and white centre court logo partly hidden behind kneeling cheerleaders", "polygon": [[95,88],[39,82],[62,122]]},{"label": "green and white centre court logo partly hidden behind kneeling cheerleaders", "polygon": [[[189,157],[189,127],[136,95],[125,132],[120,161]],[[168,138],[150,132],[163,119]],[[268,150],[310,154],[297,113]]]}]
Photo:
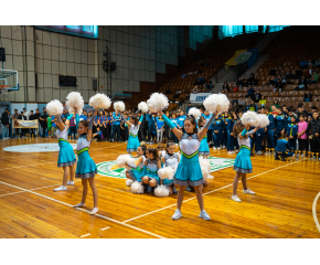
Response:
[{"label": "green and white centre court logo partly hidden behind kneeling cheerleaders", "polygon": [[[217,157],[209,157],[207,159],[211,165],[210,172],[215,172],[225,168],[230,168],[233,167],[234,165],[234,159],[217,158]],[[97,170],[98,173],[103,176],[126,179],[125,168],[118,168],[117,161],[106,161],[97,163]]]}]

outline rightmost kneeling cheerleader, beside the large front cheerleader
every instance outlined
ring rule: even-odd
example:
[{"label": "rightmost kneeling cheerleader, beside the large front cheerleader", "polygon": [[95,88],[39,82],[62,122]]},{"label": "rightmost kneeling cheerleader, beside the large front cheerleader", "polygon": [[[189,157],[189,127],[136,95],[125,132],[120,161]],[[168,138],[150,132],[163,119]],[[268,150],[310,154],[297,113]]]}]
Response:
[{"label": "rightmost kneeling cheerleader, beside the large front cheerleader", "polygon": [[[177,166],[180,162],[180,157],[177,153],[174,153],[173,142],[167,144],[166,151],[167,151],[167,153],[164,156],[162,156],[162,158],[161,158],[162,166],[177,169]],[[173,179],[172,180],[164,179],[163,184],[168,187],[170,195],[172,193],[177,193],[175,187],[173,184]]]}]

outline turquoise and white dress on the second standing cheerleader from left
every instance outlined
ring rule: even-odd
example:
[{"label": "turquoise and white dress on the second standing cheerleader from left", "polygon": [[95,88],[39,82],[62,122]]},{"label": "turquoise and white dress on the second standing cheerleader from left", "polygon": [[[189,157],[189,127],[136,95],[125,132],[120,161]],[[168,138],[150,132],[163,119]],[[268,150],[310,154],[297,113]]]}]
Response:
[{"label": "turquoise and white dress on the second standing cheerleader from left", "polygon": [[90,142],[87,140],[87,135],[81,135],[77,140],[76,153],[78,157],[75,177],[82,179],[88,179],[95,177],[97,173],[97,167],[94,160],[89,156]]}]

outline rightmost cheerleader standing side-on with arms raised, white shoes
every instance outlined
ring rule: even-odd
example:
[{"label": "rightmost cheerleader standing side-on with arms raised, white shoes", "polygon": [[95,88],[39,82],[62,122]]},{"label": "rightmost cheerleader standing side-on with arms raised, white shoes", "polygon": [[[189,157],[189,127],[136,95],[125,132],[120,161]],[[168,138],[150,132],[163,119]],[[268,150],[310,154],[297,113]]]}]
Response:
[{"label": "rightmost cheerleader standing side-on with arms raised, white shoes", "polygon": [[242,183],[244,187],[243,192],[245,194],[255,194],[255,192],[253,192],[252,190],[247,188],[247,173],[253,172],[253,165],[250,160],[250,137],[249,136],[255,134],[258,127],[248,131],[249,127],[250,127],[249,125],[245,127],[242,124],[242,121],[237,121],[233,127],[233,134],[237,138],[238,145],[239,145],[239,152],[236,156],[234,167],[233,167],[236,173],[233,181],[233,194],[231,199],[234,200],[235,202],[241,202],[241,199],[238,199],[236,194],[237,183],[238,183],[239,178],[242,178]]}]

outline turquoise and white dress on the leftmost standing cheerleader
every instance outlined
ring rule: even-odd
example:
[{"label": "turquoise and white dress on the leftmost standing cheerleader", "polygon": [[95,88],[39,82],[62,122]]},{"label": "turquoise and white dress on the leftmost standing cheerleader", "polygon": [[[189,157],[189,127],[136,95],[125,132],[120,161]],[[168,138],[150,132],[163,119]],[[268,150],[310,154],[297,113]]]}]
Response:
[{"label": "turquoise and white dress on the leftmost standing cheerleader", "polygon": [[67,126],[64,126],[64,130],[56,130],[56,138],[58,142],[58,157],[57,167],[70,167],[76,163],[76,157],[74,155],[73,148],[67,141]]}]

